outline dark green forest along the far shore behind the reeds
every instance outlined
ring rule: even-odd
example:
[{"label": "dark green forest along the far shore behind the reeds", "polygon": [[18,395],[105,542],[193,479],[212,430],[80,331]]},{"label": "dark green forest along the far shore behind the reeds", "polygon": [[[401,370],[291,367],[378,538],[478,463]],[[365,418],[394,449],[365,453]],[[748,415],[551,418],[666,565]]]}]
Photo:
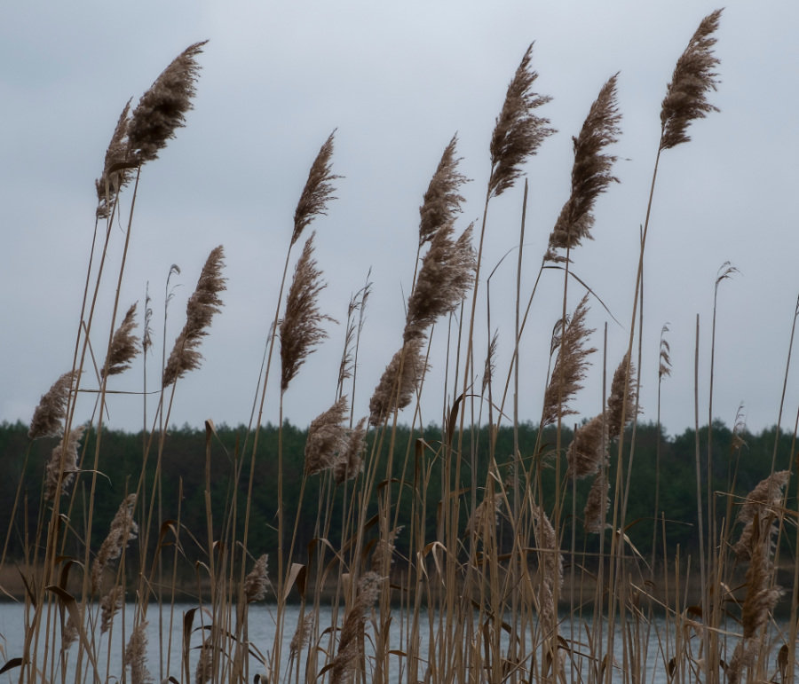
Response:
[{"label": "dark green forest along the far shore behind the reeds", "polygon": [[[249,524],[249,552],[254,556],[258,554],[274,553],[278,544],[276,535],[277,512],[277,482],[278,482],[278,433],[276,426],[268,425],[260,431],[256,452],[254,479],[252,483],[252,512]],[[687,552],[696,548],[697,536],[697,489],[696,489],[696,452],[697,444],[700,450],[700,474],[702,480],[702,501],[707,501],[706,494],[710,491],[717,492],[716,500],[719,518],[724,515],[727,507],[727,492],[738,496],[745,496],[755,485],[771,472],[771,460],[775,450],[775,428],[763,430],[758,435],[745,433],[740,435],[744,444],[733,448],[732,431],[720,421],[716,421],[712,429],[713,472],[708,480],[708,428],[700,430],[699,439],[694,430],[686,429],[678,436],[666,436],[653,424],[640,424],[637,426],[635,440],[627,440],[623,450],[624,470],[627,473],[630,458],[632,459],[631,476],[629,479],[629,500],[626,514],[626,532],[637,550],[646,557],[652,553],[653,521],[657,515],[661,519],[658,525],[658,556],[664,553],[661,531],[665,531],[665,553],[670,557],[676,551],[676,546]],[[282,469],[283,469],[283,500],[285,512],[289,520],[295,519],[297,512],[300,489],[304,478],[304,450],[306,431],[286,422],[282,429]],[[572,433],[564,429],[561,444],[569,444]],[[431,446],[430,449],[415,452],[413,444],[417,438]],[[546,433],[542,438],[542,445],[538,453],[534,452],[537,429],[529,424],[518,427],[518,444],[522,463],[525,468],[542,468],[542,497],[544,505],[550,505],[547,499],[553,495],[556,471],[555,433]],[[230,428],[221,426],[217,428],[216,436],[210,439],[210,502],[213,511],[214,534],[219,533],[218,526],[224,523],[224,512],[227,502],[236,500],[241,510],[241,502],[246,498],[249,490],[249,455],[252,452],[252,438],[246,428]],[[375,439],[371,433],[369,444]],[[428,520],[425,521],[427,540],[437,539],[436,517],[437,503],[442,491],[441,477],[446,472],[436,453],[436,446],[441,443],[441,429],[430,426],[423,430],[409,434],[408,428],[397,428],[394,440],[394,458],[392,459],[392,477],[385,478],[383,486],[392,487],[392,499],[399,498],[399,525],[407,524],[410,515],[413,497],[426,497],[426,510],[430,511]],[[95,452],[96,435],[88,432],[83,437],[82,471],[75,480],[73,489],[75,499],[68,511],[68,524],[75,531],[71,536],[74,547],[66,548],[65,553],[80,557],[83,554],[83,539],[86,520],[82,506],[88,499],[88,490],[91,486],[92,466]],[[474,446],[470,446],[470,441]],[[472,440],[464,439],[461,455],[461,483],[463,488],[463,525],[465,527],[469,509],[471,508],[471,484],[477,483],[478,497],[487,481],[487,429],[483,428]],[[634,444],[630,451],[629,444]],[[3,478],[0,478],[0,521],[3,522],[3,533],[7,531],[6,557],[8,559],[24,560],[23,549],[27,543],[35,539],[36,524],[42,515],[42,483],[44,466],[53,447],[58,444],[58,439],[41,439],[31,442],[28,439],[28,427],[21,422],[0,424],[0,456],[4,464]],[[97,548],[107,535],[109,524],[115,515],[117,507],[126,493],[135,489],[138,476],[143,463],[146,436],[131,434],[121,431],[106,430],[101,439],[99,452],[98,475],[96,477],[97,494],[94,506],[94,519],[91,525],[91,546]],[[205,468],[207,442],[204,430],[195,428],[171,428],[166,436],[162,452],[161,463],[161,496],[156,505],[160,507],[160,519],[172,520],[179,523],[182,533],[182,554],[186,561],[193,564],[198,559],[202,560],[201,544],[207,541],[208,531],[206,523],[205,503]],[[388,440],[384,441],[388,444]],[[407,444],[411,444],[407,448]],[[500,471],[510,477],[510,456],[513,453],[514,435],[513,428],[500,428],[495,446],[495,458]],[[384,446],[381,459],[387,455],[387,446]],[[471,449],[477,454],[475,462],[477,471],[471,472]],[[781,435],[777,444],[776,467],[785,469],[790,467],[792,456],[792,437]],[[151,450],[152,451],[152,450]],[[611,482],[611,497],[613,498],[615,483],[615,467],[618,461],[618,448],[615,444],[610,446],[611,466],[609,480]],[[155,476],[155,457],[150,453],[146,461],[146,490],[151,491]],[[561,476],[566,472],[566,460],[561,459],[559,466]],[[91,464],[91,465],[89,465]],[[243,467],[242,467],[243,465]],[[235,482],[236,469],[241,473],[238,478],[236,496],[233,497],[231,488]],[[384,473],[384,468],[379,468],[378,473]],[[452,469],[455,472],[455,468]],[[379,478],[378,478],[379,479]],[[507,480],[508,478],[506,478]],[[358,481],[355,481],[356,483]],[[451,483],[453,491],[457,489]],[[576,519],[574,529],[576,540],[575,548],[578,550],[593,551],[598,548],[597,535],[585,535],[581,525],[581,511],[589,490],[589,481],[579,481],[574,485],[574,494],[571,481],[566,487],[563,499],[563,548],[571,544],[572,524]],[[326,487],[336,487],[329,475],[307,476],[305,492],[302,499],[302,510],[298,516],[297,546],[299,557],[305,554],[305,549],[313,539],[320,536],[317,528],[317,512],[319,510],[320,490]],[[323,491],[323,490],[322,490]],[[331,520],[341,519],[342,502],[345,496],[352,496],[352,481],[338,487],[336,492],[336,508]],[[795,485],[789,485],[790,496],[793,498]],[[655,510],[657,494],[658,509]],[[573,495],[576,496],[574,506]],[[734,499],[732,499],[734,501]],[[17,502],[16,514],[12,516],[12,508]],[[376,510],[376,503],[372,503]],[[793,505],[793,504],[789,504]],[[574,511],[574,515],[573,515]],[[140,515],[140,513],[139,513]],[[733,510],[734,515],[734,510]],[[663,522],[665,520],[665,523]],[[608,516],[610,521],[610,516]],[[241,539],[243,519],[240,515],[237,523],[239,527],[235,539]],[[501,537],[510,535],[510,526],[504,530],[502,511],[498,515]],[[342,540],[335,529],[335,525],[326,533],[326,538],[334,547],[339,547]],[[199,541],[202,539],[202,543]],[[196,540],[196,541],[195,541]],[[510,539],[505,539],[510,543]],[[154,539],[152,541],[154,543]],[[131,545],[135,546],[135,545]],[[397,563],[402,563],[407,558],[407,542],[400,533],[396,539]],[[131,553],[137,553],[131,549]]]}]

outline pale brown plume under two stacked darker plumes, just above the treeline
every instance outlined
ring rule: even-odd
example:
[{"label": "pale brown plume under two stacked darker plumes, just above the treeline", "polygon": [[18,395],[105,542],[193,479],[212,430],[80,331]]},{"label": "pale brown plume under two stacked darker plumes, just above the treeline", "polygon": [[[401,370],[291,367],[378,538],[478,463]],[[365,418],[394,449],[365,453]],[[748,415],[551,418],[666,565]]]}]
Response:
[{"label": "pale brown plume under two stacked darker plumes, just above the treeline", "polygon": [[369,399],[369,424],[378,426],[393,411],[410,404],[418,383],[427,370],[422,356],[423,337],[406,342],[385,366],[372,398]]}]

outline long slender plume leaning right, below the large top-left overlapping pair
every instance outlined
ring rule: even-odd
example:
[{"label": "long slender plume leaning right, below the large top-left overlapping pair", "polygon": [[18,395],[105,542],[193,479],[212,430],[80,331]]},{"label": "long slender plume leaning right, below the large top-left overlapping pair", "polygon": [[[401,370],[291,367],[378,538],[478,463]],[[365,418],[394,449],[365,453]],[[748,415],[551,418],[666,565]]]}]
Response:
[{"label": "long slender plume leaning right, below the large top-left overlapping pair", "polygon": [[[197,350],[202,338],[208,334],[215,313],[220,311],[222,300],[219,293],[225,289],[226,278],[222,278],[225,251],[222,245],[213,248],[202,266],[197,287],[186,303],[186,325],[175,340],[170,358],[163,369],[163,387],[169,387],[178,378],[200,367],[202,354]],[[171,271],[170,271],[171,273]]]}]

